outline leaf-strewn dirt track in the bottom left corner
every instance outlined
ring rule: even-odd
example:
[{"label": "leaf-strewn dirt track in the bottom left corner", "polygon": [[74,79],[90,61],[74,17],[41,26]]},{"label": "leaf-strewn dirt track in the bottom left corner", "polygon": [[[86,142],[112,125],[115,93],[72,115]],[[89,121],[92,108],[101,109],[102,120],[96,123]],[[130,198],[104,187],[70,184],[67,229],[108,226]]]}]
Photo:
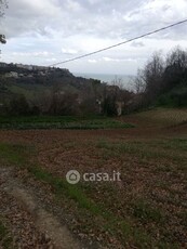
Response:
[{"label": "leaf-strewn dirt track in the bottom left corner", "polygon": [[83,249],[66,225],[39,207],[34,193],[21,187],[11,171],[0,167],[0,212],[11,223],[13,248]]}]

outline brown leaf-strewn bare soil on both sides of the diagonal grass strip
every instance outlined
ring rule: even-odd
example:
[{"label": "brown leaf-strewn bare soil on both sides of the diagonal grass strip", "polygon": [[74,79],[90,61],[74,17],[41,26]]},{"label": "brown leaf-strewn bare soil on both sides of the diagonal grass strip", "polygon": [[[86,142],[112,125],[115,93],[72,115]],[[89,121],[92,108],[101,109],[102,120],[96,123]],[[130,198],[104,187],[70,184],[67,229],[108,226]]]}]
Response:
[{"label": "brown leaf-strewn bare soil on both sides of the diagonal grass strip", "polygon": [[[172,244],[187,248],[186,145],[179,149],[181,144],[172,144],[185,143],[187,123],[184,118],[169,121],[164,116],[160,121],[151,113],[119,119],[136,127],[0,131],[0,141],[35,147],[32,160],[56,178],[65,179],[71,169],[80,173],[120,171],[121,182],[81,182],[82,192],[133,230],[145,231],[152,245],[164,241],[157,248],[171,248]],[[13,237],[13,248],[150,248],[149,243],[143,241],[143,243],[136,244],[131,235],[125,239],[118,224],[116,234],[109,232],[112,225],[106,232],[108,223],[103,217],[79,210],[74,200],[55,202],[55,198],[53,187],[36,180],[27,169],[0,166],[0,213]]]}]

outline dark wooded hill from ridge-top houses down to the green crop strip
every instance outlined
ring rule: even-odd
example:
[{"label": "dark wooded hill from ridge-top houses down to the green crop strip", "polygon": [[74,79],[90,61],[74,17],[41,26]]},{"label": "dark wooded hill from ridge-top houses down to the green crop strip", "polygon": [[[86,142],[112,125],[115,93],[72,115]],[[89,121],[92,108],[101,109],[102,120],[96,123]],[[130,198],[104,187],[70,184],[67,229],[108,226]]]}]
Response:
[{"label": "dark wooded hill from ridge-top houses down to the green crop strip", "polygon": [[0,113],[120,115],[129,97],[118,86],[76,77],[68,69],[0,63]]}]

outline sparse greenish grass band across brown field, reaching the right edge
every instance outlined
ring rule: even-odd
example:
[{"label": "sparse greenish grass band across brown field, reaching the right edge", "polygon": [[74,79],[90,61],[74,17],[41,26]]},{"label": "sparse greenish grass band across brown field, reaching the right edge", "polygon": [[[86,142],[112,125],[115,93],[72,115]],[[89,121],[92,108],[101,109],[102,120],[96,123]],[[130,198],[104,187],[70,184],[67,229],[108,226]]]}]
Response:
[{"label": "sparse greenish grass band across brown field, reaching the right edge", "polygon": [[166,139],[152,141],[124,141],[110,142],[99,139],[95,146],[103,149],[104,156],[120,157],[125,154],[135,155],[138,159],[161,159],[168,158],[175,162],[184,162],[187,157],[182,157],[182,153],[187,150],[187,139]]}]

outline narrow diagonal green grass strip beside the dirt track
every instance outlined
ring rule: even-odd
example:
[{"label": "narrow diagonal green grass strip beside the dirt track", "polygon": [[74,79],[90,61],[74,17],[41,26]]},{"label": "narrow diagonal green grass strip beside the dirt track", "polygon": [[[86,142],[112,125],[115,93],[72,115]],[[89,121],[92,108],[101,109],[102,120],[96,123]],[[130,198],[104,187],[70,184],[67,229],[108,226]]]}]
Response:
[{"label": "narrow diagonal green grass strip beside the dirt track", "polygon": [[[105,206],[94,202],[83,192],[81,185],[70,185],[65,180],[56,178],[40,167],[31,167],[29,171],[40,181],[50,184],[58,198],[68,198],[74,200],[78,208],[88,211],[92,217],[102,217],[105,221],[104,228],[112,235],[122,233],[122,240],[131,240],[133,237],[134,244],[138,248],[149,248],[152,244],[151,237],[141,228],[135,228],[133,225],[119,217],[106,210]],[[149,245],[147,247],[147,245]]]}]

